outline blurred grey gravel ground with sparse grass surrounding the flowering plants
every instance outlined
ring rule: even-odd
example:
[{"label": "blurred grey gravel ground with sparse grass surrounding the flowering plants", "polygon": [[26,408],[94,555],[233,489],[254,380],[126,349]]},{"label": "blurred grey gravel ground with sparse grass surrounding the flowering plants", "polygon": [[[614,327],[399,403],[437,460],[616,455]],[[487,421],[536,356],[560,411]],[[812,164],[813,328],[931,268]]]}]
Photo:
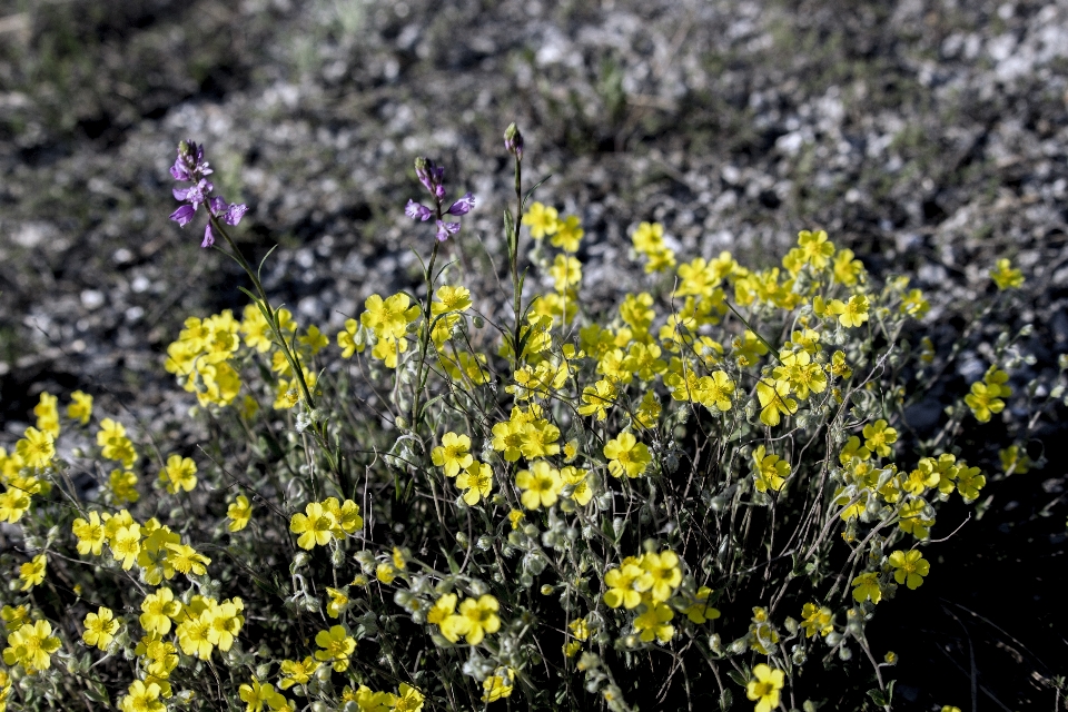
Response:
[{"label": "blurred grey gravel ground with sparse grass surrounding the flowering plants", "polygon": [[[235,269],[167,220],[185,138],[206,145],[221,192],[248,202],[243,248],[281,245],[266,283],[305,320],[336,327],[367,295],[414,284],[412,248],[432,239],[402,211],[417,155],[478,197],[464,258],[483,264],[479,241],[502,255],[501,135],[515,120],[526,175],[552,174],[538,197],[582,217],[592,299],[640,284],[626,236],[641,220],[684,254],[756,264],[822,227],[869,269],[929,291],[945,344],[990,290],[993,260],[1011,257],[1028,283],[1010,316],[1034,324],[1038,359],[1024,383],[1068,349],[1066,105],[1062,3],[0,0],[0,438],[46,387],[99,394],[145,424],[184,413],[162,349],[186,316],[243,303]],[[976,363],[961,359],[960,384]],[[1064,487],[1064,463],[983,521],[993,546],[1002,524],[1029,532],[1005,544],[1029,552],[1007,554],[1020,575],[1065,568],[1064,527],[1025,526]],[[990,571],[957,573],[980,587]],[[983,600],[1034,654],[970,633],[1017,651],[1006,664],[1019,674],[988,680],[1003,709],[1051,701],[1032,670],[1066,672],[1049,581],[1013,599],[1032,616]],[[969,690],[967,654],[936,647],[900,670],[916,709],[934,701],[923,661]],[[996,654],[983,664],[1001,665]]]}]

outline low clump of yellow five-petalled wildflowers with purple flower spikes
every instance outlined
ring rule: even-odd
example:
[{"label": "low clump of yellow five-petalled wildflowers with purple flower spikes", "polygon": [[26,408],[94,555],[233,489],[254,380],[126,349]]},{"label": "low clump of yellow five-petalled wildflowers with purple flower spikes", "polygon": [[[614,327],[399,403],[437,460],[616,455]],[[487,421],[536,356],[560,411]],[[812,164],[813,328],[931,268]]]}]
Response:
[{"label": "low clump of yellow five-petalled wildflowers with purple flower spikes", "polygon": [[[890,709],[896,656],[866,626],[953,535],[939,505],[982,495],[956,438],[1012,395],[1019,336],[921,437],[904,407],[948,360],[907,278],[821,230],[781,267],[683,261],[643,222],[649,289],[591,307],[578,218],[524,194],[514,126],[505,146],[511,289],[472,294],[447,261],[475,198],[419,159],[422,289],[330,335],[270,303],[230,235],[245,207],[180,146],[172,219],[202,207],[202,246],[249,278],[243,314],[191,316],[167,349],[211,437],[137,441],[87,394],[62,416],[41,396],[0,451],[21,536],[0,711],[811,710],[813,668]],[[992,277],[996,309],[1022,275]],[[67,434],[91,444],[61,458]]]}]

